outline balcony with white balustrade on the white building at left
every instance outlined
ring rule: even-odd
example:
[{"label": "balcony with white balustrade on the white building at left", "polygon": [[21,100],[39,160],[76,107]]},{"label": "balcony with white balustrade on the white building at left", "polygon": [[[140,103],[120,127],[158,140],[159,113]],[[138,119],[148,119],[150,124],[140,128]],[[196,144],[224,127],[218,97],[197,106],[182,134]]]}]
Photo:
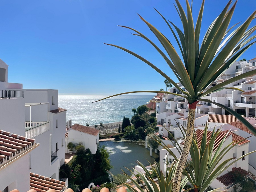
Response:
[{"label": "balcony with white balustrade on the white building at left", "polygon": [[30,122],[25,122],[25,137],[31,139],[50,130],[49,122],[32,122],[31,127],[28,125],[30,125]]}]

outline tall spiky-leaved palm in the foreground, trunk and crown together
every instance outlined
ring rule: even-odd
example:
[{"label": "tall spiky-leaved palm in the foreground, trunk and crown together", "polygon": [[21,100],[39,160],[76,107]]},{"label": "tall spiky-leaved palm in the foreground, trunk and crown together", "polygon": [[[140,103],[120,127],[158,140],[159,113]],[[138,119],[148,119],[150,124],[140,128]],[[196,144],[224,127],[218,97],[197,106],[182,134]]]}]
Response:
[{"label": "tall spiky-leaved palm in the foreground, trunk and crown together", "polygon": [[[173,94],[186,98],[189,103],[185,143],[177,164],[173,181],[173,191],[178,192],[180,189],[182,171],[187,160],[189,149],[191,147],[194,131],[195,108],[199,101],[209,102],[225,109],[232,115],[236,116],[256,135],[255,128],[251,124],[249,124],[243,117],[241,117],[241,115],[239,115],[238,113],[234,112],[233,110],[229,109],[228,107],[222,104],[215,103],[203,98],[207,96],[207,94],[211,94],[223,89],[240,90],[238,88],[225,86],[234,81],[248,77],[250,75],[254,75],[256,73],[256,70],[252,70],[241,75],[238,75],[236,77],[233,77],[232,79],[228,79],[224,82],[221,82],[216,86],[208,88],[217,77],[224,73],[236,61],[236,59],[238,59],[243,54],[244,51],[246,51],[250,46],[252,46],[255,43],[255,41],[251,42],[251,40],[253,40],[256,37],[256,35],[251,36],[251,34],[255,31],[256,26],[252,26],[248,30],[247,28],[251,21],[253,20],[256,11],[254,11],[253,14],[250,15],[249,18],[240,26],[235,27],[236,25],[234,25],[231,28],[228,28],[237,3],[235,2],[234,5],[232,5],[232,7],[228,10],[232,2],[230,0],[223,9],[223,11],[220,13],[220,15],[210,24],[206,34],[204,35],[202,44],[201,46],[199,46],[199,35],[204,9],[204,0],[199,10],[199,15],[195,25],[192,17],[192,6],[190,7],[188,0],[186,0],[187,15],[185,14],[185,11],[183,10],[179,1],[175,1],[175,7],[181,19],[183,30],[179,29],[171,21],[168,22],[164,18],[164,16],[162,16],[157,10],[156,11],[163,18],[164,22],[166,22],[172,34],[174,35],[174,38],[176,39],[176,42],[179,47],[178,50],[181,52],[181,58],[179,57],[176,49],[173,47],[168,38],[164,36],[160,31],[158,31],[153,25],[147,22],[142,16],[139,15],[141,20],[143,20],[143,22],[148,26],[148,28],[154,33],[159,42],[162,44],[167,55],[164,54],[164,52],[160,48],[158,48],[149,38],[144,36],[141,32],[127,26],[121,27],[133,30],[134,32],[136,32],[136,34],[133,35],[142,37],[147,42],[149,42],[160,53],[160,55],[162,55],[170,69],[174,72],[174,75],[176,75],[179,82],[181,82],[181,84],[185,87],[187,91],[182,90],[168,75],[166,75],[155,65],[153,65],[140,55],[117,45],[107,45],[122,49],[134,55],[141,61],[144,61],[146,64],[148,64],[158,73],[160,73],[166,80],[172,83],[177,88],[177,90],[181,92],[181,94],[171,93],[167,91],[163,91],[161,93]],[[176,30],[177,35],[174,32],[174,30]],[[133,91],[122,94],[135,92],[155,93],[159,91]],[[120,94],[116,94],[113,96],[117,95]]]}]

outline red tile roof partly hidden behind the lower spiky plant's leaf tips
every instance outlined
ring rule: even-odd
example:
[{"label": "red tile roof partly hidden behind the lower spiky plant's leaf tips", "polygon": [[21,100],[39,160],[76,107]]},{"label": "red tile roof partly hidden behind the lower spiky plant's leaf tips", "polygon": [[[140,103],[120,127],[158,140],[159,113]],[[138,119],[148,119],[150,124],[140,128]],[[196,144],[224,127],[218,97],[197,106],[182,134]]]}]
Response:
[{"label": "red tile roof partly hidden behind the lower spiky plant's leaf tips", "polygon": [[[196,136],[197,136],[197,144],[198,144],[198,147],[200,148],[202,138],[203,138],[204,129],[197,129],[195,131],[195,133],[196,133]],[[217,149],[221,140],[225,137],[225,135],[227,133],[228,133],[228,131],[221,131],[220,134],[216,137],[214,147],[213,147],[213,151],[215,151]],[[211,135],[212,135],[212,131],[207,131],[207,143],[209,143]],[[244,139],[243,137],[234,133],[234,131],[230,131],[228,136],[226,137],[226,139],[228,137],[230,137],[230,135],[232,135],[232,141],[234,141],[234,142],[238,142],[238,141],[241,141],[242,139]],[[181,144],[183,144],[183,143],[184,143],[184,141]],[[238,145],[243,145],[243,144],[246,144],[246,143],[250,143],[250,141],[245,139],[244,141],[240,142]]]}]

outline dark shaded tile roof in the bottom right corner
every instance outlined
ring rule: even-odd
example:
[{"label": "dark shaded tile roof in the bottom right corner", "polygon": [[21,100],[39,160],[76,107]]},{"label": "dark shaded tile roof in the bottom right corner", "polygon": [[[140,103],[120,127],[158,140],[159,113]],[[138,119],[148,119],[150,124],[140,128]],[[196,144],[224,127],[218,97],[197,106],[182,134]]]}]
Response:
[{"label": "dark shaded tile roof in the bottom right corner", "polygon": [[233,167],[232,171],[230,171],[220,177],[217,177],[217,179],[218,179],[218,181],[223,183],[225,186],[230,186],[230,185],[234,184],[234,182],[235,182],[235,179],[234,179],[235,174],[242,175],[243,177],[249,176],[249,173],[247,171],[245,171],[244,169],[242,169],[241,167],[239,167],[239,168]]}]

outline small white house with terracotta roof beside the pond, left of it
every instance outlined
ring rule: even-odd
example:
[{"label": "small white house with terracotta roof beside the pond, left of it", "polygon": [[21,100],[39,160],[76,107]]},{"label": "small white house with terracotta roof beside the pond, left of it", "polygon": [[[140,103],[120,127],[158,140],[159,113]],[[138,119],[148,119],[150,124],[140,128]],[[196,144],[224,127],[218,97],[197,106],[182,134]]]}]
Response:
[{"label": "small white house with terracotta roof beside the pond, left of it", "polygon": [[95,154],[98,149],[100,130],[83,125],[75,124],[72,125],[66,134],[66,148],[65,152],[68,152],[67,144],[71,143],[82,143],[84,147],[90,149],[92,154]]}]

